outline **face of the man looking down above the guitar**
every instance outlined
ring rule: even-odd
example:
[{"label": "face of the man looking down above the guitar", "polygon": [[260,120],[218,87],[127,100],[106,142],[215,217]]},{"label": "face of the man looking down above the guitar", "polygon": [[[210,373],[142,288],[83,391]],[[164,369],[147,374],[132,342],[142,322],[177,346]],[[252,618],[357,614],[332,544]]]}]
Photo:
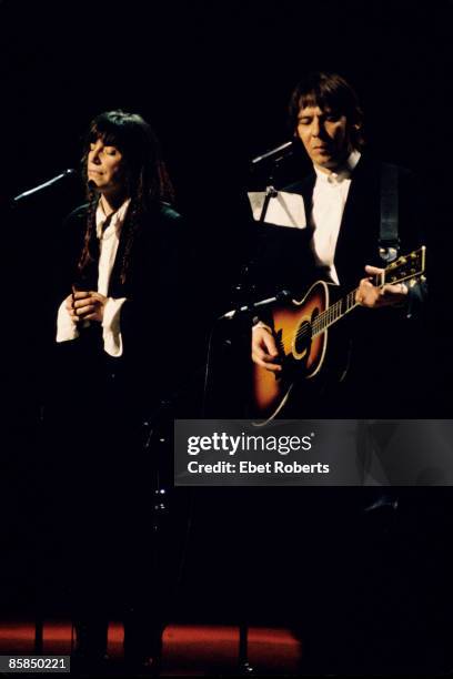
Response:
[{"label": "face of the man looking down above the guitar", "polygon": [[352,151],[346,116],[318,105],[299,111],[298,135],[311,161],[325,172],[334,171]]}]

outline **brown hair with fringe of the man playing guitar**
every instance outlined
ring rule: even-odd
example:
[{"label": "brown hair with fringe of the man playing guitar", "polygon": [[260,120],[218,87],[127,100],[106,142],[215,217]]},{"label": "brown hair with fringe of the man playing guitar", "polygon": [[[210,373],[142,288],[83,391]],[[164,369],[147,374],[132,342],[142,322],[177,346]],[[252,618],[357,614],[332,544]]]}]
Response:
[{"label": "brown hair with fringe of the man playing guitar", "polygon": [[322,110],[328,109],[335,114],[345,115],[353,146],[363,148],[362,107],[355,90],[344,78],[328,71],[313,71],[299,81],[291,94],[289,107],[292,133],[296,133],[300,110],[316,105]]}]

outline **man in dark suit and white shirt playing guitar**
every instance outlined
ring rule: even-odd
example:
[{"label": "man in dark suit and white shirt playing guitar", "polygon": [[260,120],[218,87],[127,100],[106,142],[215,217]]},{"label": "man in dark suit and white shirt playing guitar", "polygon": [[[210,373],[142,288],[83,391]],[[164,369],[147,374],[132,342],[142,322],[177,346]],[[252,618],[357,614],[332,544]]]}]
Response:
[{"label": "man in dark suit and white shirt playing guitar", "polygon": [[[329,340],[346,348],[346,376],[339,379],[344,363],[335,355],[331,381],[322,382],[310,398],[293,389],[289,407],[279,416],[414,417],[420,413],[414,407],[423,383],[417,389],[411,386],[411,372],[420,378],[420,361],[415,364],[411,356],[415,353],[411,333],[420,316],[424,284],[376,287],[371,280],[384,266],[379,241],[387,166],[364,150],[361,105],[336,73],[318,72],[303,79],[291,98],[290,120],[313,172],[284,192],[302,196],[305,221],[300,219],[298,229],[294,223],[292,227],[276,220],[272,223],[276,213],[269,209],[269,224],[258,226],[261,243],[251,266],[256,296],[288,288],[301,298],[315,281],[323,280],[344,288],[343,294],[356,288],[360,307],[340,322],[346,342],[334,335]],[[407,254],[423,244],[420,194],[409,172],[397,169],[396,175],[392,209],[399,217],[400,253]],[[256,321],[252,359],[278,378],[284,368],[272,317],[262,315]],[[411,493],[413,488],[403,489],[406,493],[399,497],[379,488],[300,490],[273,488],[272,497],[274,514],[280,513],[273,520],[282,545],[275,551],[286,556],[289,581],[310,584],[301,585],[300,599],[292,592],[294,609],[290,611],[299,617],[294,627],[303,643],[304,671],[433,669],[432,649],[439,635],[433,627],[421,631],[432,600],[423,575],[432,545],[430,511],[436,506],[429,501],[432,495],[425,496],[423,489]],[[400,511],[394,511],[399,505]],[[414,525],[421,525],[416,513],[421,507],[424,529],[417,543],[411,536]],[[290,528],[288,516],[299,517]],[[416,614],[407,585],[411,571],[412,581],[420,582]]]}]

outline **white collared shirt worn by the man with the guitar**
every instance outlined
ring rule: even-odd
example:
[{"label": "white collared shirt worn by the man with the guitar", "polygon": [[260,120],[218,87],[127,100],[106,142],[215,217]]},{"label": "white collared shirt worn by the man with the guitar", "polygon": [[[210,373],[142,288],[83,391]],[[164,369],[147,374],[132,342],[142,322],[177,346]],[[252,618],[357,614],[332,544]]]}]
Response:
[{"label": "white collared shirt worn by the man with the guitar", "polygon": [[334,265],[336,241],[339,240],[341,221],[351,186],[351,174],[360,160],[359,151],[353,151],[344,166],[338,172],[328,174],[316,165],[316,181],[313,190],[313,210],[311,226],[313,229],[312,250],[320,266],[326,267],[332,283],[339,285],[339,276]]}]

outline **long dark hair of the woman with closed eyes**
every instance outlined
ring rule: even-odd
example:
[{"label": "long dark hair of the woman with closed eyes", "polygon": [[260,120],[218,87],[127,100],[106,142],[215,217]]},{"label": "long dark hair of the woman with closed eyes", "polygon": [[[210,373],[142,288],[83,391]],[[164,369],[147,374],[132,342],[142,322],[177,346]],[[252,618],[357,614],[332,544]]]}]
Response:
[{"label": "long dark hair of the woman with closed eyes", "polygon": [[[165,164],[160,155],[158,139],[151,126],[138,113],[125,111],[107,111],[101,113],[90,124],[87,134],[82,158],[84,179],[90,144],[102,140],[107,145],[115,146],[124,160],[124,189],[125,195],[131,199],[128,217],[123,229],[125,233],[124,255],[121,262],[121,282],[128,276],[130,259],[134,237],[142,226],[142,215],[160,202],[172,203],[174,200],[173,186],[167,172]],[[79,274],[98,259],[98,239],[95,233],[95,211],[99,192],[92,183],[87,181],[88,191],[88,220],[84,234],[83,250],[79,260]]]}]

